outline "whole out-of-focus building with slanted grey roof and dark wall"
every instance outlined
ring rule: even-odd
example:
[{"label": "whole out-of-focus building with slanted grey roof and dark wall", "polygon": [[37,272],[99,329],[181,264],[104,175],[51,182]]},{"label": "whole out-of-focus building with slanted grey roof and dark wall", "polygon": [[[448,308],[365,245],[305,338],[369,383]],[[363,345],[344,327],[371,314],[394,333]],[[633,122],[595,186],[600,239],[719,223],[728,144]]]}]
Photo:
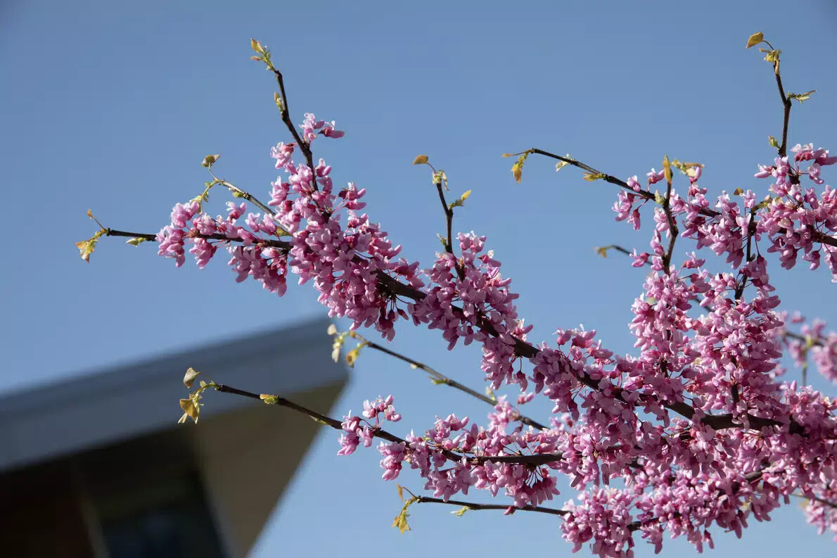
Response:
[{"label": "whole out-of-focus building with slanted grey roof and dark wall", "polygon": [[347,380],[328,323],[249,335],[0,397],[0,555],[248,554],[321,426],[204,392],[177,424],[190,366],[327,412]]}]

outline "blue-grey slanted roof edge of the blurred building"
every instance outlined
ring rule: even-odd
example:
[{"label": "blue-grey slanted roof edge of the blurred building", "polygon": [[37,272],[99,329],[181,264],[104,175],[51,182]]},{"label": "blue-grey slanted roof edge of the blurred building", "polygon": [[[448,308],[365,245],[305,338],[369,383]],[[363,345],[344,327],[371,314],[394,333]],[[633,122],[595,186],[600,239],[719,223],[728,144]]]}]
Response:
[{"label": "blue-grey slanted roof edge of the blurred building", "polygon": [[[186,369],[256,393],[295,394],[338,386],[347,378],[330,358],[328,321],[254,333],[157,356],[0,397],[0,472],[176,428],[186,397]],[[258,406],[229,394],[207,394],[207,416]],[[327,411],[327,409],[322,409]],[[181,427],[185,427],[182,426]]]}]

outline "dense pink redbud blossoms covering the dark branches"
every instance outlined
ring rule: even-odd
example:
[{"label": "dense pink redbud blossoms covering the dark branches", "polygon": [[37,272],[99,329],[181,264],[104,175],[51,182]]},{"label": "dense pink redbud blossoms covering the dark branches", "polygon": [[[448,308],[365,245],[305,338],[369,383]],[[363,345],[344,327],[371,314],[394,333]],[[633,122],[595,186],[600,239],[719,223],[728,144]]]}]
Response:
[{"label": "dense pink redbud blossoms covering the dark branches", "polygon": [[[828,152],[798,146],[792,162],[761,168],[757,176],[774,180],[777,197],[768,202],[750,190],[710,201],[698,184],[701,167],[687,168],[686,197],[670,190],[650,220],[649,251],[634,250],[631,264],[650,265],[650,275],[631,307],[634,354],[614,354],[583,327],[557,329],[554,344],[529,344],[531,325],[518,316],[518,295],[485,236],[457,235],[454,253],[439,253],[426,270],[399,257],[401,246],[361,213],[365,189],[349,183],[335,193],[324,161],[312,168],[310,158],[293,160],[310,155],[317,137],[342,132],[311,114],[302,131],[305,149],[279,143],[271,150],[282,172],[270,191],[275,214],[244,218],[244,204],[229,204],[225,217],[211,218],[196,202],[177,204],[157,238],[161,255],[181,266],[190,243],[203,267],[223,245],[237,281],[252,276],[281,295],[290,269],[352,328],[374,327],[392,340],[396,321],[412,318],[440,330],[449,349],[476,341],[491,389],[516,386],[518,405],[543,395],[554,415],[548,428],[524,428],[501,397],[485,426],[449,415],[401,439],[384,435],[385,422],[401,419],[390,395],[366,401],[362,416],[344,417],[340,455],[383,438],[384,479],[398,478],[408,463],[436,498],[485,490],[503,497],[509,513],[552,500],[562,473],[580,491],[564,508],[563,536],[574,550],[589,543],[603,557],[633,555],[635,534],[657,551],[664,532],[702,550],[712,545],[711,525],[741,535],[748,519],[769,519],[793,493],[834,499],[837,403],[780,381],[780,359],[785,348],[798,364],[810,354],[824,375],[837,377],[837,335],[813,323],[802,330],[808,341],[788,337],[763,256],[778,252],[787,268],[799,251],[812,267],[822,254],[837,273],[834,248],[822,241],[837,230],[837,194],[817,188],[820,169],[837,160]],[[814,187],[801,188],[803,174]],[[645,188],[665,178],[652,169]],[[639,209],[657,196],[637,177],[627,184],[614,211],[639,230]],[[674,235],[732,268],[711,273],[695,253],[679,259]],[[399,307],[393,284],[411,302]],[[809,519],[833,530],[827,510],[812,502]]]}]

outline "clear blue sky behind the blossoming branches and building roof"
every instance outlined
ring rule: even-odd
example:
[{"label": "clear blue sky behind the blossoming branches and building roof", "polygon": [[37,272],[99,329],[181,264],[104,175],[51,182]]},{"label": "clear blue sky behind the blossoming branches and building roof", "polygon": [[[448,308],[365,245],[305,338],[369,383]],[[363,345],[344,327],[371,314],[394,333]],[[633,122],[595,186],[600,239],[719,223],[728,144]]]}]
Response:
[{"label": "clear blue sky behind the blossoming branches and building roof", "polygon": [[[595,256],[593,246],[642,250],[647,231],[633,235],[614,223],[613,187],[586,183],[573,169],[556,174],[537,158],[518,185],[502,152],[570,152],[623,178],[659,168],[668,153],[706,163],[701,183],[711,192],[764,189],[752,173],[773,157],[767,137],[781,132],[781,107],[768,63],[743,48],[759,30],[784,50],[788,90],[818,90],[794,106],[791,143],[837,151],[837,8],[827,0],[228,4],[0,3],[7,196],[0,389],[323,312],[310,287],[278,299],[254,282],[235,284],[223,256],[205,271],[192,261],[175,270],[152,246],[110,239],[87,265],[73,246],[95,230],[88,208],[107,226],[159,230],[173,204],[202,188],[199,163],[210,152],[223,154],[224,178],[267,191],[276,176],[268,150],[286,132],[274,82],[248,59],[251,36],[273,49],[295,121],[313,111],[347,131],[340,141],[319,142],[318,154],[337,183],[369,190],[369,212],[406,256],[432,261],[443,229],[429,176],[410,166],[413,158],[429,154],[454,193],[473,189],[455,226],[489,236],[524,293],[520,313],[535,324],[537,340],[583,323],[610,348],[629,351],[626,324],[644,272],[615,254]],[[826,178],[837,180],[831,170]],[[220,213],[221,196],[212,201]],[[682,242],[680,253],[689,246]],[[824,270],[779,271],[773,279],[785,307],[837,325],[837,286]],[[448,354],[438,333],[403,333],[395,349],[481,389],[474,348]],[[388,393],[404,431],[451,411],[477,418],[486,411],[367,352],[334,414]],[[256,556],[570,550],[551,517],[458,519],[444,506],[413,508],[413,532],[399,535],[389,526],[399,507],[395,486],[380,480],[377,452],[336,457],[336,449],[336,436],[324,432]],[[409,472],[400,482],[420,488]],[[715,540],[719,557],[834,556],[837,549],[795,505],[746,530],[742,541]],[[682,550],[693,552],[686,543],[664,551]],[[652,549],[639,542],[637,555]]]}]

